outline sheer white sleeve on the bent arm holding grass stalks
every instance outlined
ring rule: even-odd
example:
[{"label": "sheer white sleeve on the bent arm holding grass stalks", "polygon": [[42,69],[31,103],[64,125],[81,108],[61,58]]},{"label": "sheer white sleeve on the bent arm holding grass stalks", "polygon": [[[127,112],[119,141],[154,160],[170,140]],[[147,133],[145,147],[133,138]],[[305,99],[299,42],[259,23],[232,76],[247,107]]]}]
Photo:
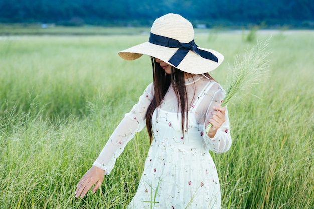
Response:
[{"label": "sheer white sleeve on the bent arm holding grass stalks", "polygon": [[[218,84],[217,84],[218,85]],[[208,118],[211,115],[211,112],[213,111],[213,107],[215,105],[221,104],[223,99],[225,98],[225,91],[221,88],[215,88],[217,91],[213,92],[213,97],[210,101],[210,105],[208,107],[207,113],[206,113],[206,121],[208,121]],[[226,152],[230,149],[232,139],[230,136],[230,121],[228,117],[228,109],[226,107],[226,112],[225,112],[225,122],[221,125],[221,127],[217,130],[215,136],[213,138],[208,137],[207,134],[204,134],[203,138],[206,144],[206,147],[215,152],[215,153],[223,153]],[[204,123],[204,133],[205,133],[205,124]]]}]

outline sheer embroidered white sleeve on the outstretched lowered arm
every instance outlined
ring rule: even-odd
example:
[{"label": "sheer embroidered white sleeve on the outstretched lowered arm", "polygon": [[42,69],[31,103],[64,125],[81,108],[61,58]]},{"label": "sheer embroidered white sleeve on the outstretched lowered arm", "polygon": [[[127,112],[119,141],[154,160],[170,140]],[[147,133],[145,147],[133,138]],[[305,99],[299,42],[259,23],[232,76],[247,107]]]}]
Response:
[{"label": "sheer embroidered white sleeve on the outstretched lowered arm", "polygon": [[153,84],[149,84],[139,101],[132,110],[125,114],[123,120],[110,136],[105,147],[101,151],[94,166],[105,170],[109,175],[116,159],[123,152],[126,144],[134,137],[136,132],[141,131],[146,126],[145,114],[154,95]]}]

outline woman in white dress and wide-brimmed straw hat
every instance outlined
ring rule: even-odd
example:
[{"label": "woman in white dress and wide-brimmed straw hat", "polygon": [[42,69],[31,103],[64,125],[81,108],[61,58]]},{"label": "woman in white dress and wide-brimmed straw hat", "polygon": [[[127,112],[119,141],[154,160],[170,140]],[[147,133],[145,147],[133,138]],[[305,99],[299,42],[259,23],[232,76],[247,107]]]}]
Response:
[{"label": "woman in white dress and wide-brimmed straw hat", "polygon": [[[125,115],[77,185],[83,197],[109,175],[127,142],[145,125],[151,146],[128,208],[221,208],[219,178],[209,150],[231,146],[225,93],[208,74],[223,55],[199,48],[192,24],[177,14],[156,19],[148,42],[119,52],[125,60],[151,56],[153,83]],[[208,133],[205,129],[211,123]]]}]

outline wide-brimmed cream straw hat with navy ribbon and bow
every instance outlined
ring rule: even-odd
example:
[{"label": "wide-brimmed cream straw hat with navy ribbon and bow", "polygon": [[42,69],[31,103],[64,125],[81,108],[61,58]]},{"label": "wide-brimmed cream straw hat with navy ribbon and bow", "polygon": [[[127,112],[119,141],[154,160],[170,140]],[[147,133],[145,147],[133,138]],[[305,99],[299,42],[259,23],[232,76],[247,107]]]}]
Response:
[{"label": "wide-brimmed cream straw hat with navy ribbon and bow", "polygon": [[158,58],[184,72],[202,74],[217,68],[224,56],[194,43],[192,24],[178,14],[169,13],[154,21],[149,41],[118,52],[125,60],[143,54]]}]

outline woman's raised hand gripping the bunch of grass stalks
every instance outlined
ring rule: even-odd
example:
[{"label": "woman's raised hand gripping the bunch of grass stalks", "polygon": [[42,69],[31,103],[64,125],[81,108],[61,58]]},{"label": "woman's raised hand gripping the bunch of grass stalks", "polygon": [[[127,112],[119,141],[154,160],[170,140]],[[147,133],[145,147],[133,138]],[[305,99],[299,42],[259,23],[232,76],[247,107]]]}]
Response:
[{"label": "woman's raised hand gripping the bunch of grass stalks", "polygon": [[[213,138],[220,126],[225,122],[225,112],[226,108],[222,107],[220,105],[214,106],[213,107],[214,111],[211,113],[211,116],[208,119],[207,125],[209,123],[212,124],[212,127],[210,128],[208,132],[208,136],[210,138]],[[206,126],[207,127],[207,126]]]}]

